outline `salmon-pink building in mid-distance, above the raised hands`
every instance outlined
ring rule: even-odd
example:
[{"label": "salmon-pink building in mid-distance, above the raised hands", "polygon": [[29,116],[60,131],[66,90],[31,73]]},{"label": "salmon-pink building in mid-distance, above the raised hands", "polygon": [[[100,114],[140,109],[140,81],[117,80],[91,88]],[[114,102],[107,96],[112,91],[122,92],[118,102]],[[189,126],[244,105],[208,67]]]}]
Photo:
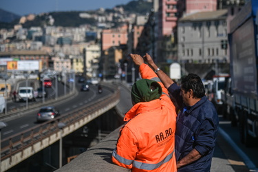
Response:
[{"label": "salmon-pink building in mid-distance, above the raised hands", "polygon": [[121,28],[103,30],[102,32],[102,51],[109,47],[127,44],[127,25]]}]

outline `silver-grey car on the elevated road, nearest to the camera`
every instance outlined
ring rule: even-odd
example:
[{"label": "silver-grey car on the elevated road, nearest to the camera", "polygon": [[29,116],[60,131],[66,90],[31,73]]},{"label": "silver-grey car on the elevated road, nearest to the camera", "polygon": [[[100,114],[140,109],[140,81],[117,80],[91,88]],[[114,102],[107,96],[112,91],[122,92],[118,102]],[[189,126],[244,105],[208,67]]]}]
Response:
[{"label": "silver-grey car on the elevated road, nearest to the camera", "polygon": [[60,113],[55,107],[41,107],[41,109],[39,109],[38,114],[36,114],[36,121],[41,122],[46,120],[52,120],[57,116],[60,116]]}]

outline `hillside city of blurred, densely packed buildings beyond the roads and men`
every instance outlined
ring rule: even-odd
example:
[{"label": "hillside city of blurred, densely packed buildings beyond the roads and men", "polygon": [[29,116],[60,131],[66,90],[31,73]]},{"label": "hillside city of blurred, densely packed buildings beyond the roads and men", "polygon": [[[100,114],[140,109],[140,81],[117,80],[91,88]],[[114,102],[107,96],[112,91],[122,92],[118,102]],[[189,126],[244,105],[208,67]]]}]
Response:
[{"label": "hillside city of blurred, densely packed buildings beyond the roads and men", "polygon": [[141,0],[112,9],[30,14],[11,29],[1,28],[0,70],[10,72],[8,61],[32,60],[41,61],[36,72],[51,69],[133,82],[138,69],[128,54],[149,53],[167,74],[175,62],[180,63],[182,74],[205,77],[199,68],[217,74],[229,64],[228,23],[243,4],[233,0]]}]

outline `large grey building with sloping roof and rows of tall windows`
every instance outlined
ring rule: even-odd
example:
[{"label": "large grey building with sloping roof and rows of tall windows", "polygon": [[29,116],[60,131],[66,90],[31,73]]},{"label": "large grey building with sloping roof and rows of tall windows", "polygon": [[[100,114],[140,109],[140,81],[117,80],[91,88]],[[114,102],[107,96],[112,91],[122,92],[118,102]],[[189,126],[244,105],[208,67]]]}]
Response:
[{"label": "large grey building with sloping roof and rows of tall windows", "polygon": [[197,12],[178,21],[178,61],[227,61],[228,10]]}]

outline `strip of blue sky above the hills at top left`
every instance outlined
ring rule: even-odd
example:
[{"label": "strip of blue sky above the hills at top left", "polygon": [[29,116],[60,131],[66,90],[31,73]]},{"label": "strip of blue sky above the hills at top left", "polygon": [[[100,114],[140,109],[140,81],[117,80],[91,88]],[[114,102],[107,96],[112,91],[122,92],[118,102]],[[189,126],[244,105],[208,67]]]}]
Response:
[{"label": "strip of blue sky above the hills at top left", "polygon": [[0,0],[0,8],[20,16],[54,11],[85,11],[113,8],[131,0]]}]

